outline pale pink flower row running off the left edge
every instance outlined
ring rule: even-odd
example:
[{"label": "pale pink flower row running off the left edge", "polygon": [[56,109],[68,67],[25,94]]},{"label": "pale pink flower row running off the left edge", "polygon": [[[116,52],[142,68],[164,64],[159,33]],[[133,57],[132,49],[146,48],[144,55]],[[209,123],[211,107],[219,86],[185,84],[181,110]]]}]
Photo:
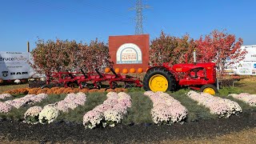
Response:
[{"label": "pale pink flower row running off the left edge", "polygon": [[18,109],[21,106],[25,106],[26,104],[41,102],[45,98],[47,98],[47,94],[27,94],[25,97],[22,98],[16,98],[14,100],[0,102],[0,113],[8,113],[13,107]]}]

